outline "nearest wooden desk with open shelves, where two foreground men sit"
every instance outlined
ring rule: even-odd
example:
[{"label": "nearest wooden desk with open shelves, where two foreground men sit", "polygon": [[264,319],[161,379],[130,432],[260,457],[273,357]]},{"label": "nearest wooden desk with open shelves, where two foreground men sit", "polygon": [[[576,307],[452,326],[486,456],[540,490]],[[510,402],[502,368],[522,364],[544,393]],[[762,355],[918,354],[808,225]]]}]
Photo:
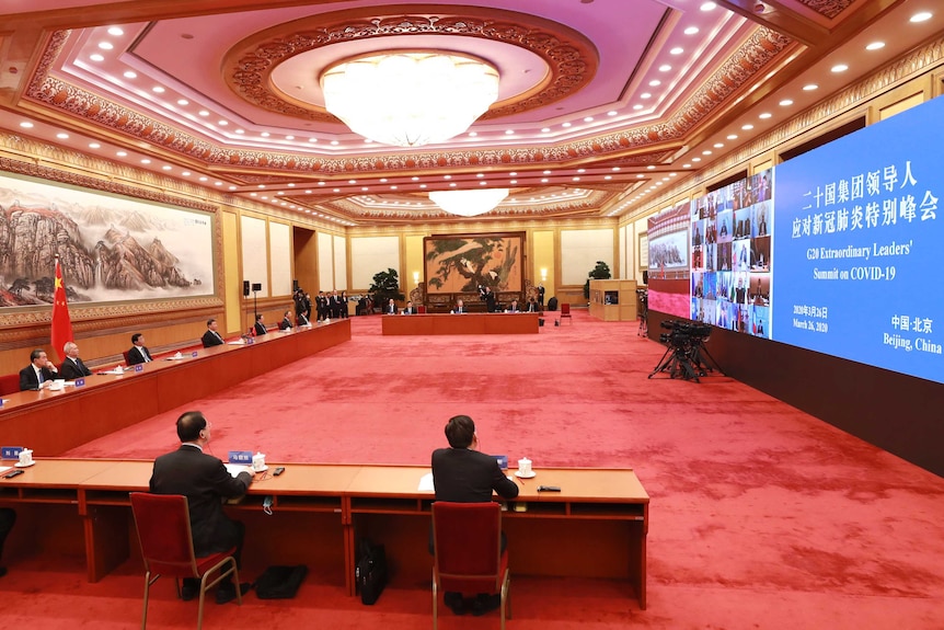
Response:
[{"label": "nearest wooden desk with open shelves, where two foreground men sit", "polygon": [[[37,461],[25,474],[0,479],[0,504],[27,513],[13,532],[20,538],[16,548],[80,550],[89,580],[101,580],[137,553],[128,493],[147,490],[152,466],[51,459]],[[433,493],[418,490],[428,468],[284,466],[284,474],[255,481],[243,501],[228,507],[246,525],[243,564],[250,571],[306,563],[354,595],[356,542],[369,537],[384,545],[393,585],[428,585]],[[520,495],[503,516],[511,571],[625,581],[628,595],[645,609],[649,497],[635,473],[537,472],[537,478],[519,481]],[[539,484],[562,492],[539,493]],[[273,496],[272,516],[262,511],[267,495]],[[526,509],[516,511],[522,504]]]}]

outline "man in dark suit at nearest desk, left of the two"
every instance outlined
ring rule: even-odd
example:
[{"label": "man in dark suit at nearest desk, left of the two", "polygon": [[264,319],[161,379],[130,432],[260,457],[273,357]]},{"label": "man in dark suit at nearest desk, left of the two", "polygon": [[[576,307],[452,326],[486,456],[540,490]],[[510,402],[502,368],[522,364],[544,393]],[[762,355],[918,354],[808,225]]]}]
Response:
[{"label": "man in dark suit at nearest desk, left of the two", "polygon": [[[191,512],[191,531],[194,552],[208,555],[235,547],[237,564],[240,562],[245,527],[230,520],[222,507],[223,499],[237,499],[245,494],[253,473],[246,467],[237,477],[229,473],[223,462],[204,453],[210,442],[210,423],[199,411],[188,411],[177,419],[177,437],[181,447],[154,460],[150,490],[156,494],[183,494]],[[245,592],[249,584],[241,584]],[[181,595],[191,599],[199,593],[199,581],[184,580]],[[228,577],[217,589],[217,604],[235,598],[235,586]]]}]

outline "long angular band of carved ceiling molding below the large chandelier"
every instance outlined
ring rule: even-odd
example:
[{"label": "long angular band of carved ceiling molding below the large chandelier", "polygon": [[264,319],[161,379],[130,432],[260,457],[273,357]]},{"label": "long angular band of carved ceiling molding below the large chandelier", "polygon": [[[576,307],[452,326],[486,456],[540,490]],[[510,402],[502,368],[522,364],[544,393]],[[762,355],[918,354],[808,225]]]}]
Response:
[{"label": "long angular band of carved ceiling molding below the large chandelier", "polygon": [[[608,154],[612,154],[614,159],[621,159],[630,152],[640,153],[648,147],[678,145],[683,142],[686,134],[721,106],[726,98],[748,83],[771,60],[783,54],[792,43],[784,35],[758,27],[675,114],[664,122],[652,125],[641,125],[596,138],[554,146],[321,158],[301,153],[240,150],[215,145],[53,77],[49,75],[49,69],[61,53],[69,33],[69,31],[59,31],[49,38],[25,92],[30,100],[149,142],[157,149],[173,151],[202,161],[208,168],[217,167],[220,173],[226,173],[227,168],[230,168],[329,177],[355,173],[390,174],[417,169],[468,169],[490,164],[539,167]],[[660,147],[659,150],[665,150],[665,147]],[[655,163],[658,161],[656,154],[642,156],[637,163]]]}]

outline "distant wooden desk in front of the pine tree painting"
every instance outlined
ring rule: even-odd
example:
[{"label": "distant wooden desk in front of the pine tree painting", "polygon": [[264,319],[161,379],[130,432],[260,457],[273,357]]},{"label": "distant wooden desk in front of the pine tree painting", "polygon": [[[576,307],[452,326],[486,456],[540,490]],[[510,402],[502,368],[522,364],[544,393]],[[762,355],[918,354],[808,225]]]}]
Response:
[{"label": "distant wooden desk in front of the pine tree painting", "polygon": [[383,316],[387,335],[538,334],[540,313]]}]

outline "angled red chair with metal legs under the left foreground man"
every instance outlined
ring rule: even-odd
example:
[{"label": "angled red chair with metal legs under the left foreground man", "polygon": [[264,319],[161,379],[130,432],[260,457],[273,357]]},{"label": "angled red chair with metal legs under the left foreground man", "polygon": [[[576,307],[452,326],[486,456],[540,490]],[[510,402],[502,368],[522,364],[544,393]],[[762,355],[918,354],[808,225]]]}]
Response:
[{"label": "angled red chair with metal legs under the left foreground man", "polygon": [[[145,560],[145,611],[141,617],[141,630],[148,625],[148,595],[151,584],[161,575],[174,579],[177,597],[181,596],[180,579],[193,577],[200,581],[200,603],[197,610],[197,630],[204,622],[204,595],[216,586],[223,577],[232,574],[239,584],[235,547],[206,558],[197,558],[194,553],[194,538],[191,532],[191,517],[187,508],[187,497],[181,494],[149,494],[147,492],[131,493],[131,512],[135,515],[135,527],[141,543],[141,558]],[[219,573],[212,582],[207,582],[210,575]],[[240,588],[235,589],[237,600],[242,606]]]}]

